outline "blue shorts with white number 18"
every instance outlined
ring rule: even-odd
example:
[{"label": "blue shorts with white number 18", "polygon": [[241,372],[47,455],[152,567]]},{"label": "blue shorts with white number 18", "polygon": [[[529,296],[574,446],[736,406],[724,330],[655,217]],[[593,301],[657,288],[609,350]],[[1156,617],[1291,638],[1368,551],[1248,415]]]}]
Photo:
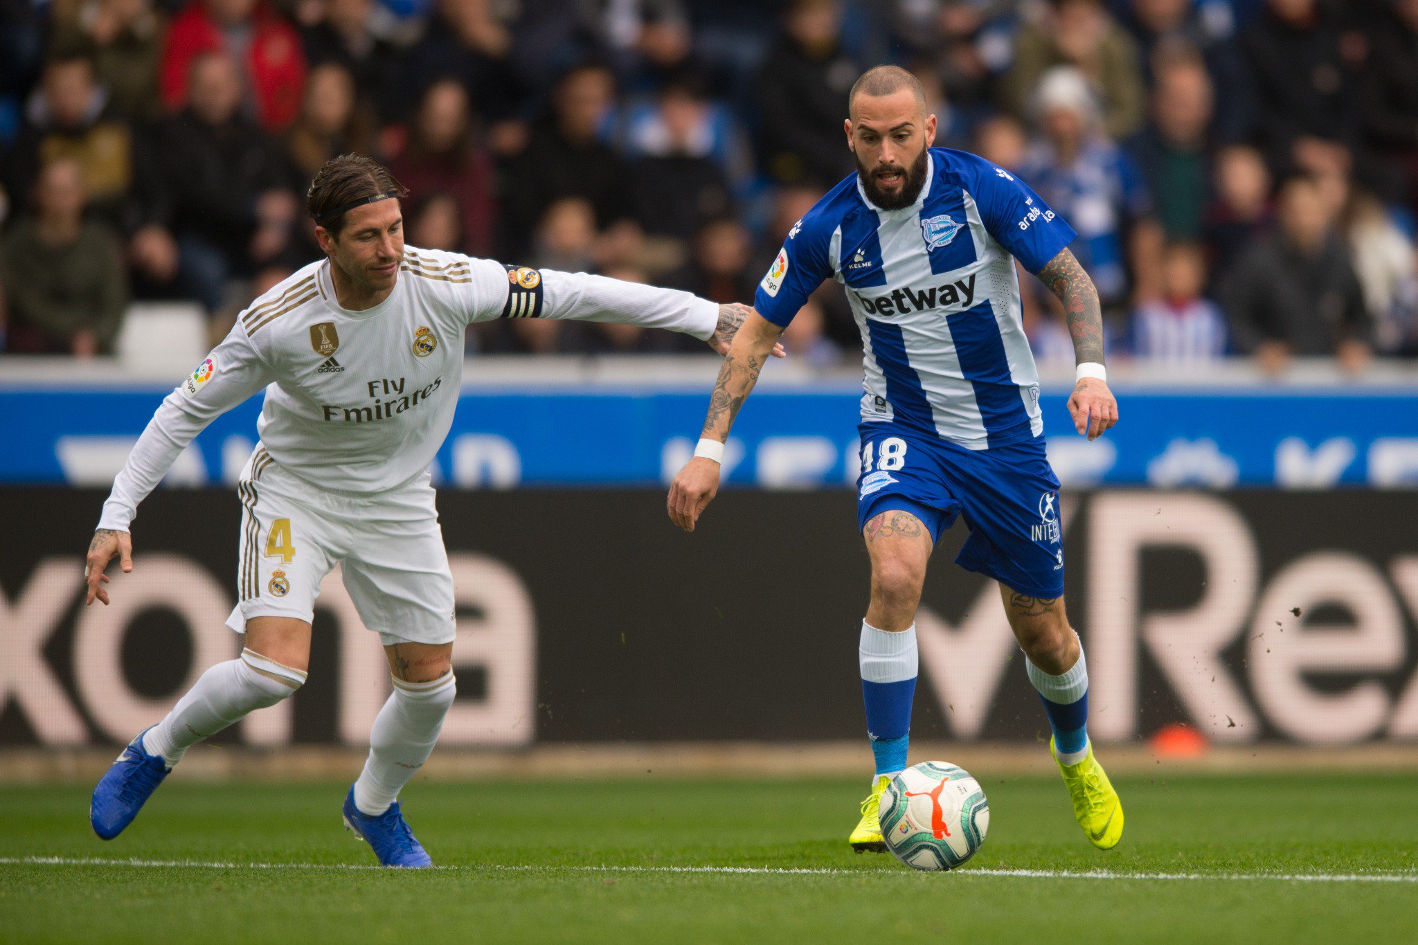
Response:
[{"label": "blue shorts with white number 18", "polygon": [[1020,594],[1064,595],[1059,480],[1042,436],[977,451],[896,424],[858,429],[858,530],[899,509],[920,519],[937,541],[960,516],[970,537],[956,564]]}]

